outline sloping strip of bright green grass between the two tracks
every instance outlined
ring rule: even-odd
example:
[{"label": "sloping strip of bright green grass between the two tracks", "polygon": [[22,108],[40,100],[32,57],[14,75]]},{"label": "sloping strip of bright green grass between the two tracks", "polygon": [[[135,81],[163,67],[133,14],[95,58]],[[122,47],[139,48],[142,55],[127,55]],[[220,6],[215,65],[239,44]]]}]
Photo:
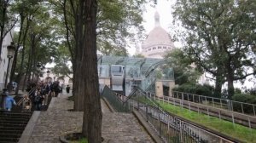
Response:
[{"label": "sloping strip of bright green grass between the two tracks", "polygon": [[244,142],[256,143],[256,129],[249,129],[239,124],[219,119],[218,117],[210,117],[198,112],[189,111],[179,106],[158,102],[158,104],[166,111],[171,112],[178,117],[183,117],[191,122],[199,123],[209,129],[218,131],[219,133],[226,134]]}]

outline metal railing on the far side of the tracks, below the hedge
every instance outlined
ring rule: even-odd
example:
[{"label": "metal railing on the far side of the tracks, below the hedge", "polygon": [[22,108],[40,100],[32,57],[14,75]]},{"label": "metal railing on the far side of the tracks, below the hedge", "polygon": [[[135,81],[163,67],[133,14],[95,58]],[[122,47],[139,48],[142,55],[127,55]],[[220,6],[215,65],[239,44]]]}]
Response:
[{"label": "metal railing on the far side of the tracks, below the hedge", "polygon": [[190,102],[200,103],[207,106],[213,106],[229,110],[231,112],[240,112],[251,116],[256,116],[256,105],[243,103],[235,100],[224,100],[220,98],[208,97],[199,94],[189,94],[178,91],[173,91],[173,97]]}]

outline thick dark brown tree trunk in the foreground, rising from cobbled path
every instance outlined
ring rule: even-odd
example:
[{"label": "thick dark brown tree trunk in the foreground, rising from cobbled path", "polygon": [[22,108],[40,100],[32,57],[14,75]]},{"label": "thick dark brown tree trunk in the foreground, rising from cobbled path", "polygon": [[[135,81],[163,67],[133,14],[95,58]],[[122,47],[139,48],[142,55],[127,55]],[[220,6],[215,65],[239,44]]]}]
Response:
[{"label": "thick dark brown tree trunk in the foreground, rising from cobbled path", "polygon": [[96,0],[79,0],[79,11],[76,14],[75,104],[79,104],[78,108],[84,107],[82,134],[90,143],[102,142],[102,109],[96,56],[96,10]]}]

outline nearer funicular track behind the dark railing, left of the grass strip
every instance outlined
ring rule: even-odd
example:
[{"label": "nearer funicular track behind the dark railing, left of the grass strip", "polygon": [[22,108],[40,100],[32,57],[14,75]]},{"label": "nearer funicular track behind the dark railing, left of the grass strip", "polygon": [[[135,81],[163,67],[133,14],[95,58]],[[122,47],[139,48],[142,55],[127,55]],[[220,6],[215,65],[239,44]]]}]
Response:
[{"label": "nearer funicular track behind the dark railing, left of the grass strip", "polygon": [[[121,98],[124,99],[124,97]],[[170,112],[161,111],[158,107],[137,103],[134,99],[129,100],[129,105],[141,112],[147,122],[161,136],[163,142],[241,142],[211,129],[205,129],[199,124],[191,123]]]}]

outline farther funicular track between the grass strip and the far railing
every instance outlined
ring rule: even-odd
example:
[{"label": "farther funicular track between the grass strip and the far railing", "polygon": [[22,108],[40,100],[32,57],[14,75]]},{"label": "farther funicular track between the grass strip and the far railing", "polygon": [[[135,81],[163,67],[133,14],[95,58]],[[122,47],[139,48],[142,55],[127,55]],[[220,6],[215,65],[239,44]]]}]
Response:
[{"label": "farther funicular track between the grass strip and the far railing", "polygon": [[172,104],[174,106],[181,106],[185,109],[188,109],[194,112],[201,112],[212,117],[218,117],[220,119],[224,119],[233,123],[239,123],[243,126],[256,129],[255,116],[242,114],[240,112],[232,112],[232,111],[228,111],[218,107],[207,106],[200,103],[191,102],[189,100],[181,100],[181,99],[173,98],[170,96],[162,96],[162,97],[154,96],[152,98],[154,98],[154,100],[159,100],[160,102],[162,101],[165,103]]}]

